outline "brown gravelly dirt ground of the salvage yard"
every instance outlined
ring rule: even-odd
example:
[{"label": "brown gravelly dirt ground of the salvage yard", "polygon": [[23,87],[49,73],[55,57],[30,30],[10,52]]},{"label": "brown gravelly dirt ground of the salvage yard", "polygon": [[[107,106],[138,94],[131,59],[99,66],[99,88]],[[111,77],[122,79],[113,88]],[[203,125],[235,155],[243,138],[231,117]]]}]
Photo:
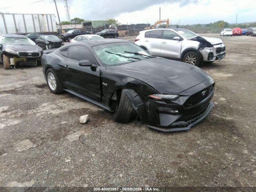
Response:
[{"label": "brown gravelly dirt ground of the salvage yard", "polygon": [[256,186],[256,37],[204,36],[221,38],[226,57],[201,66],[216,81],[215,107],[183,132],[115,123],[51,94],[41,66],[1,64],[0,186]]}]

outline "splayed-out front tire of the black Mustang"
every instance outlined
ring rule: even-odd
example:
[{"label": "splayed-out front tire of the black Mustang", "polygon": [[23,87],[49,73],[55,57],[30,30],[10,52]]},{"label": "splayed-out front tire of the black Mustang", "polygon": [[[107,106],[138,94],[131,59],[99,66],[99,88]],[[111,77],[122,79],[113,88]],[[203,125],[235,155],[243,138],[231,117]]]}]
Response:
[{"label": "splayed-out front tire of the black Mustang", "polygon": [[127,123],[136,114],[132,103],[125,91],[122,91],[119,103],[114,113],[114,120],[120,123]]}]

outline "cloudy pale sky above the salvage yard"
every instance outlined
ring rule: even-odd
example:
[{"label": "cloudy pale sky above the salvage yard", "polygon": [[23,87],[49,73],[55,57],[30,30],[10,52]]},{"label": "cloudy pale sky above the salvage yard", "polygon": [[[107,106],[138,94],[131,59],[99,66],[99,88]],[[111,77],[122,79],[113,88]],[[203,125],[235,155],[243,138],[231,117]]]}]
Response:
[{"label": "cloudy pale sky above the salvage yard", "polygon": [[[39,1],[39,2],[37,2]],[[70,18],[106,20],[121,24],[149,23],[169,18],[171,24],[256,22],[256,0],[67,0]],[[67,20],[64,0],[56,0],[60,20]],[[0,12],[55,14],[53,0],[1,0]],[[58,19],[56,18],[56,21]]]}]

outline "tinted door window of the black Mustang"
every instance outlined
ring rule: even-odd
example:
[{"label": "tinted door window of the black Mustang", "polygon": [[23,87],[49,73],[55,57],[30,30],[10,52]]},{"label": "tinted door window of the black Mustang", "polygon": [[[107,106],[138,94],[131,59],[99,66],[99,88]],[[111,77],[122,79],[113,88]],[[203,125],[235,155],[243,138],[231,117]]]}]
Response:
[{"label": "tinted door window of the black Mustang", "polygon": [[68,50],[68,58],[77,61],[88,59],[92,64],[95,64],[95,58],[93,54],[86,47],[82,46],[70,46]]}]

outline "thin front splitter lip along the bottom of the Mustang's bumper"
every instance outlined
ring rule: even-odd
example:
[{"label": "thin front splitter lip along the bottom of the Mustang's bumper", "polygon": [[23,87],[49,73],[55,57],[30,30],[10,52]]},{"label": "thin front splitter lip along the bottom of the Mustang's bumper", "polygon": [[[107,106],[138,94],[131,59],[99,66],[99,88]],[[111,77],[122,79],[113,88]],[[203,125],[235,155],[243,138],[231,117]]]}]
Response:
[{"label": "thin front splitter lip along the bottom of the Mustang's bumper", "polygon": [[212,101],[210,101],[209,106],[206,109],[205,114],[200,117],[199,119],[195,120],[194,122],[190,123],[188,126],[186,127],[178,127],[178,128],[160,128],[160,127],[155,127],[155,126],[151,126],[148,125],[149,128],[152,129],[156,129],[159,131],[163,131],[163,132],[173,132],[173,131],[184,131],[184,130],[189,130],[192,126],[194,126],[195,124],[197,124],[198,122],[202,121],[204,118],[206,118],[206,116],[208,116],[208,114],[210,113],[211,109],[214,107],[214,104],[212,103]]}]

